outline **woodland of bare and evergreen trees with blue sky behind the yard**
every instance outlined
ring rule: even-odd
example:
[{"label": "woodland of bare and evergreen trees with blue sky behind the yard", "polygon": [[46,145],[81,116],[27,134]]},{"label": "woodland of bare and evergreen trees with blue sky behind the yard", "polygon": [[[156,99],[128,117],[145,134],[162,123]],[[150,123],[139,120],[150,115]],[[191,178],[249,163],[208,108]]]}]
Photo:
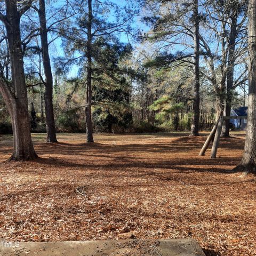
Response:
[{"label": "woodland of bare and evergreen trees with blue sky behind the yard", "polygon": [[210,130],[247,105],[247,6],[1,1],[0,132]]}]

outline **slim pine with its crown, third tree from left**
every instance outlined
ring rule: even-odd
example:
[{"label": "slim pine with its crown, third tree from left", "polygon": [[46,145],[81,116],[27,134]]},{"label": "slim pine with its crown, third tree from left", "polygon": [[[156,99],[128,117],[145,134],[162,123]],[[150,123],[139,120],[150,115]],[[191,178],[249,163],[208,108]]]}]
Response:
[{"label": "slim pine with its crown, third tree from left", "polygon": [[[111,13],[111,8],[115,9],[114,15]],[[93,142],[92,93],[93,83],[99,80],[97,73],[115,79],[111,74],[113,69],[108,67],[110,60],[106,59],[107,55],[105,59],[103,58],[101,49],[107,49],[108,46],[118,43],[117,36],[126,29],[131,29],[128,25],[133,15],[134,12],[129,7],[121,8],[114,2],[103,1],[100,3],[88,0],[87,6],[79,9],[73,26],[67,23],[60,30],[61,36],[66,39],[66,53],[82,63],[82,74],[86,77],[84,85],[86,88],[87,142]],[[117,47],[116,51],[118,51]],[[76,54],[79,57],[76,57]]]}]

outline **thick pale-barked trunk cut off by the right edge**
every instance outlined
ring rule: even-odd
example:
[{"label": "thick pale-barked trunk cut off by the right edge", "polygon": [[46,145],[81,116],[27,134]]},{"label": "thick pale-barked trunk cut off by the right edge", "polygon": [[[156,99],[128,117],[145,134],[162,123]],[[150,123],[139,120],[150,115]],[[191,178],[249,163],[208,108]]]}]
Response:
[{"label": "thick pale-barked trunk cut off by the right edge", "polygon": [[256,173],[256,0],[249,1],[248,17],[249,102],[244,155],[238,167]]}]

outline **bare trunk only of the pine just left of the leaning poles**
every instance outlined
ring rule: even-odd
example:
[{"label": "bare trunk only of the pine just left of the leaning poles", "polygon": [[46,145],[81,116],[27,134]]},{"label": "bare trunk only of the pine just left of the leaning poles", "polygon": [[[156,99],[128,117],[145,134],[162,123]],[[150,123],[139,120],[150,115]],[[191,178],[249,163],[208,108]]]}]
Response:
[{"label": "bare trunk only of the pine just left of the leaning poles", "polygon": [[199,135],[199,107],[200,107],[200,81],[199,81],[199,17],[198,17],[198,0],[194,1],[194,100],[193,116],[191,122],[191,135]]}]

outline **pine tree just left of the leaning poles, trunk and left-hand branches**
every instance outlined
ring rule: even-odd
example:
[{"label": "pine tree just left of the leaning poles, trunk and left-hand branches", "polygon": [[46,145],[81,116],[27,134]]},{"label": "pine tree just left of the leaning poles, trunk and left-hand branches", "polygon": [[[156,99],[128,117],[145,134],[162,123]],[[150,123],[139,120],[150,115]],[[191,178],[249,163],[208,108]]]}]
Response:
[{"label": "pine tree just left of the leaning poles, trunk and left-hand branches", "polygon": [[[199,23],[203,18],[198,12],[198,1],[147,1],[152,12],[144,17],[151,31],[148,40],[165,49],[155,65],[168,66],[175,61],[189,63],[194,73],[194,99],[191,135],[199,135],[200,73],[199,73]],[[157,5],[157,8],[155,8]],[[172,48],[179,50],[172,53]],[[161,50],[162,51],[162,50]],[[152,63],[152,65],[154,62]]]}]

